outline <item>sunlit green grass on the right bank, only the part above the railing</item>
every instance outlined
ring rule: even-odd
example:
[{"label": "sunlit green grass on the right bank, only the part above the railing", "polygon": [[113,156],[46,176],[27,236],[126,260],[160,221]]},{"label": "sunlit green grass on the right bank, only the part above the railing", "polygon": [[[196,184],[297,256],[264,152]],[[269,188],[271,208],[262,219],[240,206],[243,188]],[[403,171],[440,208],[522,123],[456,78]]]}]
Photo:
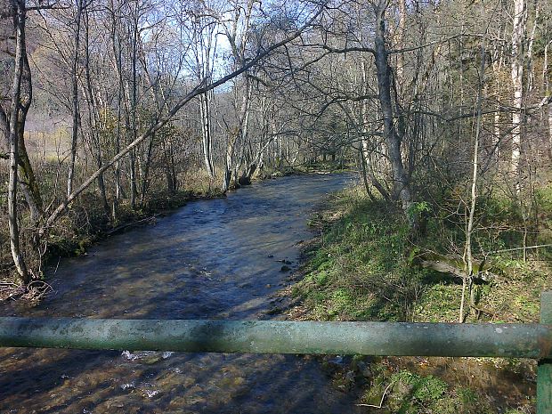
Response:
[{"label": "sunlit green grass on the right bank, only the part above the railing", "polygon": [[[552,215],[552,196],[547,200],[549,205],[543,202],[540,207],[542,223],[548,223],[548,215],[542,214],[546,208]],[[492,217],[514,220],[515,214],[503,204],[503,199],[487,200],[485,206],[493,207],[482,222],[490,222]],[[293,294],[304,300],[313,319],[457,321],[459,278],[417,264],[420,251],[446,255],[443,246],[451,239],[463,248],[457,225],[444,223],[439,215],[430,216],[426,239],[413,246],[402,213],[383,201],[367,199],[359,188],[330,199],[328,207],[309,223],[321,229],[321,237],[305,253],[305,277]],[[440,229],[432,230],[436,227]],[[483,230],[476,236],[475,255],[495,239],[501,240],[500,247],[512,246],[505,231]],[[517,241],[510,242],[517,246]],[[475,289],[478,306],[489,313],[472,313],[468,321],[538,321],[540,292],[552,287],[548,251],[531,256],[527,263],[517,251],[488,256],[485,269],[498,278]],[[461,267],[461,258],[455,260]]]}]

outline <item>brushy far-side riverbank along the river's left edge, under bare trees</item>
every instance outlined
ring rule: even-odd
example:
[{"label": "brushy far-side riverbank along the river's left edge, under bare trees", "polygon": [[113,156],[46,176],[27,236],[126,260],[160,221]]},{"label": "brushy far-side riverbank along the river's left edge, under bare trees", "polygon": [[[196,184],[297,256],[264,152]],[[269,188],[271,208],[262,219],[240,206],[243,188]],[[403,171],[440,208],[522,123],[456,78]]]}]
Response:
[{"label": "brushy far-side riverbank along the river's left edge, under bare trees", "polygon": [[[253,182],[289,175],[318,175],[343,171],[341,166],[331,162],[298,167],[271,167],[257,172]],[[134,209],[128,199],[122,199],[117,206],[116,214],[112,210],[113,206],[110,206],[110,211],[106,211],[97,191],[85,192],[71,204],[67,214],[51,229],[48,249],[42,257],[45,270],[35,275],[36,280],[44,280],[44,272],[59,264],[62,257],[85,255],[87,249],[95,243],[120,231],[130,230],[136,225],[155,223],[158,215],[165,215],[193,200],[225,197],[223,191],[219,189],[218,182],[217,179],[210,179],[202,172],[198,172],[195,175],[189,175],[180,191],[152,189]],[[231,191],[238,190],[242,186],[235,183],[231,186]],[[112,203],[112,200],[110,202]],[[3,231],[0,232],[0,301],[28,293],[26,292],[28,289],[21,287],[15,278],[7,221],[3,224]],[[33,282],[41,288],[46,286],[42,282],[36,283],[36,281]],[[41,289],[37,289],[35,293],[30,292],[28,298],[40,295],[40,291]]]}]

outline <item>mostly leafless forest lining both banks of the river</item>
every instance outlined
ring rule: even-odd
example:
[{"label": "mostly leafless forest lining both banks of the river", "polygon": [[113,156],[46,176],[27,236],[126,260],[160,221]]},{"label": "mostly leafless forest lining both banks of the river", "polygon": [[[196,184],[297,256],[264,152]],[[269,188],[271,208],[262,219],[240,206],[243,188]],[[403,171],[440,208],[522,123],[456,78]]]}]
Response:
[{"label": "mostly leafless forest lining both banks of the river", "polygon": [[[1,0],[0,298],[49,294],[61,257],[191,199],[345,172],[358,185],[308,220],[290,318],[538,321],[550,15],[546,0]],[[449,412],[435,401],[400,412]]]}]

